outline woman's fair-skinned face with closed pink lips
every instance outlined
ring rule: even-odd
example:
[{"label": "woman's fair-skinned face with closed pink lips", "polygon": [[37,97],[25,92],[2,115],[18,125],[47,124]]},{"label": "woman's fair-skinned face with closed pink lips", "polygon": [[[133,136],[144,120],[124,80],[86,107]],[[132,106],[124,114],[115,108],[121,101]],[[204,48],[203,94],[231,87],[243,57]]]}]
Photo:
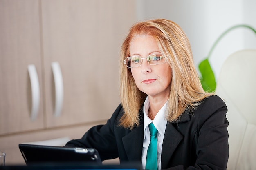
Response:
[{"label": "woman's fair-skinned face with closed pink lips", "polygon": [[[160,53],[156,40],[150,35],[133,38],[130,43],[131,56],[146,58],[148,55]],[[167,63],[150,65],[147,59],[143,59],[141,66],[131,68],[131,72],[136,86],[148,97],[168,99],[172,73]]]}]

